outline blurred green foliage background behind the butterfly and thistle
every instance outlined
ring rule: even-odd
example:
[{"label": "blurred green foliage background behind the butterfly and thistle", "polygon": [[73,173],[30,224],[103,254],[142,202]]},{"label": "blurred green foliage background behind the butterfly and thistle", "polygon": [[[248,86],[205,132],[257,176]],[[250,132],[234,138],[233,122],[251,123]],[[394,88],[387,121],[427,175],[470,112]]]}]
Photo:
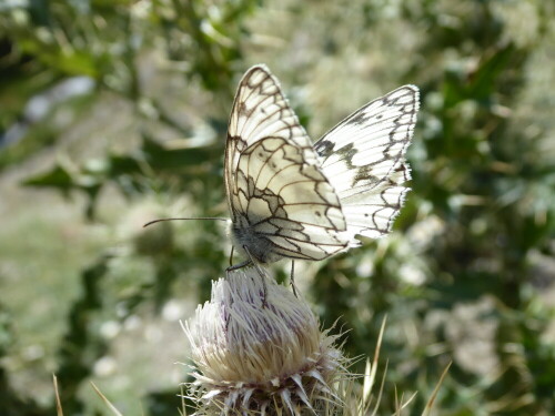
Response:
[{"label": "blurred green foliage background behind the butterfly and thistle", "polygon": [[[180,407],[178,319],[230,245],[222,160],[236,82],[280,78],[317,138],[422,90],[395,231],[296,267],[347,353],[387,316],[380,414],[555,414],[555,3],[543,0],[0,2],[0,408]],[[224,242],[224,243],[222,243]],[[287,263],[275,266],[284,280]],[[362,372],[361,362],[355,371]]]}]

